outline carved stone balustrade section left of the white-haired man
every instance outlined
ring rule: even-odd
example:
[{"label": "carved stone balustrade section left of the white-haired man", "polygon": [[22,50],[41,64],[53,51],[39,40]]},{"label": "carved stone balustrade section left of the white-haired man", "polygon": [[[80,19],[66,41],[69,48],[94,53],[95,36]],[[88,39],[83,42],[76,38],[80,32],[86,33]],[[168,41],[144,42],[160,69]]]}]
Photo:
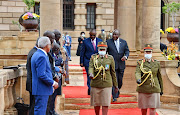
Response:
[{"label": "carved stone balustrade section left of the white-haired man", "polygon": [[23,95],[23,68],[0,69],[0,115],[17,115],[14,105]]}]

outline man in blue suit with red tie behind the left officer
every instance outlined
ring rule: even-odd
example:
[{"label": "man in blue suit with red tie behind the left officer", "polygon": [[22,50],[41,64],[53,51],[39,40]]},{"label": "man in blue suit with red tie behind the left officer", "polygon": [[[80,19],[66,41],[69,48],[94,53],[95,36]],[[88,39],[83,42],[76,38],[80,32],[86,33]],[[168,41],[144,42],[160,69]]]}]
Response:
[{"label": "man in blue suit with red tie behind the left officer", "polygon": [[96,30],[92,29],[89,32],[90,37],[83,40],[81,52],[80,52],[80,66],[85,67],[87,73],[87,86],[88,86],[88,95],[90,95],[90,82],[91,79],[89,77],[88,69],[89,69],[89,61],[92,54],[98,53],[97,44],[102,40],[100,38],[96,38]]}]

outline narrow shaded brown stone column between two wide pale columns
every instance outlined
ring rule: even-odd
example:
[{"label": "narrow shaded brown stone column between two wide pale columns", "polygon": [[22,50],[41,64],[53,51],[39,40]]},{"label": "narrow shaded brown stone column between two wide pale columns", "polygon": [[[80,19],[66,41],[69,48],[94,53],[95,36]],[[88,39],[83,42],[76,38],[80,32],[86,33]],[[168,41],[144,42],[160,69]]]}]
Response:
[{"label": "narrow shaded brown stone column between two wide pale columns", "polygon": [[142,7],[143,0],[136,0],[136,50],[142,50]]}]

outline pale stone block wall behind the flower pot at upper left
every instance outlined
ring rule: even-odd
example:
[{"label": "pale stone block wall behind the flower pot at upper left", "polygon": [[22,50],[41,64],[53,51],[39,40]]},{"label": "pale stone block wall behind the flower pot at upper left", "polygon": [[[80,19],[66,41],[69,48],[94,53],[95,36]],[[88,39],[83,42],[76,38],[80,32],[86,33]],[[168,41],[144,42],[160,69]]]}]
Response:
[{"label": "pale stone block wall behind the flower pot at upper left", "polygon": [[[26,11],[26,5],[22,0],[0,1],[0,36],[17,35],[19,28],[12,24],[12,21],[17,22]],[[33,9],[31,11],[33,12]]]}]

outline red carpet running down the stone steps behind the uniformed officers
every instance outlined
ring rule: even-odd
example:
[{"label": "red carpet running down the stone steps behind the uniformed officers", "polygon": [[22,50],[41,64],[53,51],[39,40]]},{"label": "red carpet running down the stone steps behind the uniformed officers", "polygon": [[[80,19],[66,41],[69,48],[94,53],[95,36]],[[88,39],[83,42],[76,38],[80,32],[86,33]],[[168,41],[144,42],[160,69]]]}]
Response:
[{"label": "red carpet running down the stone steps behind the uniformed officers", "polygon": [[[70,66],[79,66],[79,65],[70,65]],[[63,87],[63,93],[65,98],[90,98],[87,95],[87,76],[84,68],[83,77],[84,77],[84,86],[66,86]],[[131,97],[131,95],[120,95],[120,97]],[[137,102],[115,102],[111,104],[125,104],[125,103],[137,103]],[[89,103],[76,103],[76,105],[90,105]],[[80,110],[79,115],[95,115],[93,109]],[[102,115],[102,110],[100,112]],[[141,110],[138,108],[129,108],[129,109],[110,109],[108,115],[141,115]],[[149,115],[149,114],[148,114]],[[158,115],[158,114],[156,114]]]}]

